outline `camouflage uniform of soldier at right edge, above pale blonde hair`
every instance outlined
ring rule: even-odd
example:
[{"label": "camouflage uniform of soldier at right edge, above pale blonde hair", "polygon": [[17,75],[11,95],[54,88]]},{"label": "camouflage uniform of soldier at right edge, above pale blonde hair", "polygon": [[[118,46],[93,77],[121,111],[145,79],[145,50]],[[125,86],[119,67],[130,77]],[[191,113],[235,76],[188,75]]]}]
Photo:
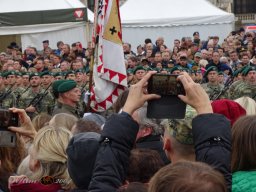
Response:
[{"label": "camouflage uniform of soldier at right edge, above pale blonde hair", "polygon": [[228,98],[234,100],[243,96],[248,96],[256,101],[256,85],[251,85],[243,80],[234,82],[230,86]]}]

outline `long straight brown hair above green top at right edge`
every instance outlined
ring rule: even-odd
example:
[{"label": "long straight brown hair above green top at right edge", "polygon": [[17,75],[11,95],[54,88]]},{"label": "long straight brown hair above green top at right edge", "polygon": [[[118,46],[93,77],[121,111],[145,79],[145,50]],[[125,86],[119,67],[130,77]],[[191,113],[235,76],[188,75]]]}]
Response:
[{"label": "long straight brown hair above green top at right edge", "polygon": [[256,168],[256,116],[238,119],[232,127],[231,170],[248,171]]}]

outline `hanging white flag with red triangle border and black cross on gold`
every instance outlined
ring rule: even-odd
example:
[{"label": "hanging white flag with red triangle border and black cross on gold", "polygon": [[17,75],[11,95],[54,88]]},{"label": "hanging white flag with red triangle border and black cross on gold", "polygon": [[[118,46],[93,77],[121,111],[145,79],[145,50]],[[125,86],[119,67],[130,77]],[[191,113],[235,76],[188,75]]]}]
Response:
[{"label": "hanging white flag with red triangle border and black cross on gold", "polygon": [[[91,108],[105,111],[127,87],[127,75],[122,46],[119,0],[96,0],[94,86]],[[96,21],[97,20],[97,21]]]}]

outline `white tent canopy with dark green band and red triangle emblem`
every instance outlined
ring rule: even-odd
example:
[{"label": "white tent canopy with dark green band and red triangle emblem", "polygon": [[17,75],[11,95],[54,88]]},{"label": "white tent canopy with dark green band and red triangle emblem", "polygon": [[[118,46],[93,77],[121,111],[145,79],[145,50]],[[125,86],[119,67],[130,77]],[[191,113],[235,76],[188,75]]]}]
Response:
[{"label": "white tent canopy with dark green band and red triangle emblem", "polygon": [[22,48],[56,43],[87,44],[86,7],[79,0],[1,0],[0,35],[21,35]]}]

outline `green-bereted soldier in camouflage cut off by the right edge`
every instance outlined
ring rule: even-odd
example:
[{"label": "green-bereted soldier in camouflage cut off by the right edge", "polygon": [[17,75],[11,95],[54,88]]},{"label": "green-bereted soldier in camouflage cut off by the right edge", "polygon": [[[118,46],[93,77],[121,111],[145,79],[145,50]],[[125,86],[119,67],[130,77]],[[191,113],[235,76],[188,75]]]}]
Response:
[{"label": "green-bereted soldier in camouflage cut off by the right edge", "polygon": [[256,71],[254,67],[247,66],[242,76],[244,80],[234,82],[228,92],[229,99],[237,99],[243,96],[248,96],[256,100]]}]

